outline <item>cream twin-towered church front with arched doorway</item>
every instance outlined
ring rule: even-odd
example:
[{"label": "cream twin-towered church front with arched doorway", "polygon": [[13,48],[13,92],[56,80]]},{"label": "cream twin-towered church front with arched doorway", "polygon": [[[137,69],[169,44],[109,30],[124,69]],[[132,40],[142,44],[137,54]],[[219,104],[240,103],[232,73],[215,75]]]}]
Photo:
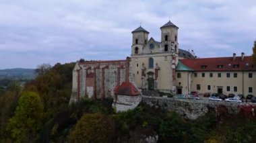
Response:
[{"label": "cream twin-towered church front with arched doorway", "polygon": [[179,60],[178,27],[168,21],[161,30],[161,42],[148,40],[149,32],[132,32],[131,67],[135,84],[142,90],[174,92],[175,67]]}]

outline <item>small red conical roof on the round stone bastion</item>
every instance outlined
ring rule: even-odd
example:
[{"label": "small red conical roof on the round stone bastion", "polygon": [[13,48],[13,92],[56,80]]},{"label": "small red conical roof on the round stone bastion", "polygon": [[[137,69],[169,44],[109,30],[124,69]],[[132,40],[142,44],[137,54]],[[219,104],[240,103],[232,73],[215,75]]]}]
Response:
[{"label": "small red conical roof on the round stone bastion", "polygon": [[129,82],[123,82],[121,85],[115,87],[114,93],[117,95],[137,96],[139,91]]}]

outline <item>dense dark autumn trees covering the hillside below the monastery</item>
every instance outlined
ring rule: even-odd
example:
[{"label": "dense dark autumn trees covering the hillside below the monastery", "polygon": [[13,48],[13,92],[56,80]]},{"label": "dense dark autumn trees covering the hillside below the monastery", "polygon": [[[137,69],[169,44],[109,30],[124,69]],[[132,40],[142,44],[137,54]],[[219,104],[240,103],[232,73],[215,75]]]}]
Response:
[{"label": "dense dark autumn trees covering the hillside below the monastery", "polygon": [[38,66],[22,89],[15,82],[0,96],[0,142],[256,142],[256,121],[215,109],[186,120],[140,103],[115,112],[113,99],[82,99],[68,106],[74,63]]}]

